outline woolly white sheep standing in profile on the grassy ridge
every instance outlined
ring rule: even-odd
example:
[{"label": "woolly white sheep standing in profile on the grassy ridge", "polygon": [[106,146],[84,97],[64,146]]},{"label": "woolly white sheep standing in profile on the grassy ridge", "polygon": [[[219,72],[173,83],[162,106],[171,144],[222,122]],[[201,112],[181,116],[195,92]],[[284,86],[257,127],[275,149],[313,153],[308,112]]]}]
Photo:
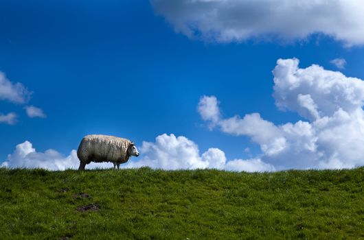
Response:
[{"label": "woolly white sheep standing in profile on the grassy ridge", "polygon": [[80,159],[78,170],[92,162],[111,162],[114,169],[119,169],[121,163],[126,163],[130,156],[139,156],[137,147],[128,139],[106,135],[84,136],[78,146],[77,156]]}]

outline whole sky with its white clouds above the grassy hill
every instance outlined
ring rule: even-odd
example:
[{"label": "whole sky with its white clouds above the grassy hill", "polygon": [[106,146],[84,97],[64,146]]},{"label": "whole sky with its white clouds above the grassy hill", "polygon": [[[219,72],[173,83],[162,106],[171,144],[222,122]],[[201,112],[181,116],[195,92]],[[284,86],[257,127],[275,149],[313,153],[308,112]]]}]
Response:
[{"label": "whole sky with its white clouds above the grassy hill", "polygon": [[[123,167],[364,165],[364,3],[0,1],[0,165],[77,168],[87,134]],[[112,167],[111,163],[88,165]]]}]

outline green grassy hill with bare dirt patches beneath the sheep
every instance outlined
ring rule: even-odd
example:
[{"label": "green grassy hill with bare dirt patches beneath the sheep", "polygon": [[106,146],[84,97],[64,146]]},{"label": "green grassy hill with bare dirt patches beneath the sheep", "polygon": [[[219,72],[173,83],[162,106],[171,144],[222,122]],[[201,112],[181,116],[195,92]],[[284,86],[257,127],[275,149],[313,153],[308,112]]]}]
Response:
[{"label": "green grassy hill with bare dirt patches beneath the sheep", "polygon": [[0,169],[0,239],[364,239],[364,168]]}]

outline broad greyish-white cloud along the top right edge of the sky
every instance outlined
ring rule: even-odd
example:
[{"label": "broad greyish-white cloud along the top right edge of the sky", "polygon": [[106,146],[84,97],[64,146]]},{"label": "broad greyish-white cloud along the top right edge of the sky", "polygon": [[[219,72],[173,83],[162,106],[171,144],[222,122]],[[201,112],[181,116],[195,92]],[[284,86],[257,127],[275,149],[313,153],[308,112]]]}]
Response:
[{"label": "broad greyish-white cloud along the top right edge of the sky", "polygon": [[364,2],[357,0],[150,0],[175,31],[218,43],[304,39],[324,34],[364,43]]}]

